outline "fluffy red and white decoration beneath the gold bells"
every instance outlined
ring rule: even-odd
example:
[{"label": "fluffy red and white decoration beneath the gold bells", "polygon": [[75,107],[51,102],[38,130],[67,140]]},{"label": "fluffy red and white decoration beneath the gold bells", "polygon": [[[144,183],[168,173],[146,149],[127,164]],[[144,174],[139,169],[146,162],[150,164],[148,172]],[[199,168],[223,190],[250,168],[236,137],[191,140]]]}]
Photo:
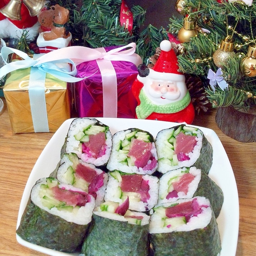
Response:
[{"label": "fluffy red and white decoration beneath the gold bells", "polygon": [[[0,9],[6,6],[10,0],[1,0]],[[23,31],[28,31],[27,39],[33,41],[38,35],[39,22],[36,16],[31,17],[28,8],[21,3],[21,20],[12,20],[0,13],[0,38],[19,39]]]}]

